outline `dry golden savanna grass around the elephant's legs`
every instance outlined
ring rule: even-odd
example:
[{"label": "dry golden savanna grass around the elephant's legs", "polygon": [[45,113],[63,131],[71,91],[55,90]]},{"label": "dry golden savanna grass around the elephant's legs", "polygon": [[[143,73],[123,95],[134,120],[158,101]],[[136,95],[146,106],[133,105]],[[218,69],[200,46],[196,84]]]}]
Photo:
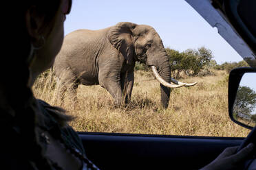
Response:
[{"label": "dry golden savanna grass around the elephant's legs", "polygon": [[[247,136],[249,130],[228,117],[228,74],[186,77],[182,82],[198,82],[192,87],[171,91],[169,108],[160,107],[160,84],[151,72],[136,71],[131,104],[115,108],[111,95],[100,86],[78,86],[78,104],[57,98],[52,71],[43,73],[34,84],[34,95],[61,106],[74,117],[76,131],[185,136]],[[61,105],[61,103],[63,103]]]}]

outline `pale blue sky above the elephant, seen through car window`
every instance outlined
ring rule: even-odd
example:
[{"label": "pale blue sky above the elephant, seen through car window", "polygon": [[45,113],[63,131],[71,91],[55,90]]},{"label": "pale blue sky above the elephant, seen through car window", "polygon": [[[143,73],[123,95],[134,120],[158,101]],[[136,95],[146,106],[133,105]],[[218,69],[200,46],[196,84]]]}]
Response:
[{"label": "pale blue sky above the elephant, seen through car window", "polygon": [[103,29],[118,22],[151,25],[164,47],[178,51],[206,47],[217,64],[242,57],[184,0],[74,0],[64,24],[65,35],[76,29]]}]

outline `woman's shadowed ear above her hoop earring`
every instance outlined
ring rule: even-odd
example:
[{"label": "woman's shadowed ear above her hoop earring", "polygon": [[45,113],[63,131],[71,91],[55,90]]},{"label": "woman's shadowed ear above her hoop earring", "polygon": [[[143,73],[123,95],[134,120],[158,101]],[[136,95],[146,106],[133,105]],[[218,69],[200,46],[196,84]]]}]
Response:
[{"label": "woman's shadowed ear above her hoop earring", "polygon": [[32,6],[25,14],[25,24],[32,43],[36,43],[41,39],[40,29],[43,24],[43,17],[36,12],[36,7]]}]

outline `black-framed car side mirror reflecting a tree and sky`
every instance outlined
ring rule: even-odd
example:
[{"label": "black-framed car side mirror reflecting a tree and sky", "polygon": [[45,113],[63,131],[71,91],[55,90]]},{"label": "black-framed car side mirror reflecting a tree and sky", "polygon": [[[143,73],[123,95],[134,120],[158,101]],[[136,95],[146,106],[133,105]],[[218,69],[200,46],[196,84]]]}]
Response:
[{"label": "black-framed car side mirror reflecting a tree and sky", "polygon": [[248,129],[256,125],[256,69],[233,69],[228,80],[228,113],[235,123]]}]

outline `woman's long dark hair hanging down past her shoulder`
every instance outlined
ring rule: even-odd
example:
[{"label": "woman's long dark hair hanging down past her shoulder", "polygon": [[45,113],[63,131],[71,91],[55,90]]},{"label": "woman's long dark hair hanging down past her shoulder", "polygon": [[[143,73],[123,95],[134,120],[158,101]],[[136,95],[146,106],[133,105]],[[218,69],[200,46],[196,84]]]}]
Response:
[{"label": "woman's long dark hair hanging down past her shoulder", "polygon": [[[8,1],[9,13],[6,14],[3,23],[6,38],[4,38],[3,49],[7,51],[6,56],[2,55],[0,62],[0,95],[4,101],[0,108],[7,104],[8,109],[1,114],[11,114],[12,123],[19,128],[21,141],[17,145],[24,148],[23,156],[29,162],[33,162],[38,169],[52,169],[50,162],[43,156],[41,145],[39,145],[38,134],[36,131],[37,119],[43,117],[38,115],[40,112],[37,101],[34,98],[32,89],[28,86],[30,70],[28,67],[28,57],[31,52],[31,38],[26,27],[25,14],[30,8],[34,8],[39,17],[43,17],[43,24],[40,32],[50,34],[54,27],[56,12],[58,11],[61,0],[27,0],[27,1]],[[13,4],[16,3],[16,4]],[[59,116],[58,116],[59,115]],[[54,118],[57,121],[65,122],[70,117],[63,116],[56,112]],[[5,117],[3,115],[3,117]],[[22,167],[21,167],[22,169]]]}]

